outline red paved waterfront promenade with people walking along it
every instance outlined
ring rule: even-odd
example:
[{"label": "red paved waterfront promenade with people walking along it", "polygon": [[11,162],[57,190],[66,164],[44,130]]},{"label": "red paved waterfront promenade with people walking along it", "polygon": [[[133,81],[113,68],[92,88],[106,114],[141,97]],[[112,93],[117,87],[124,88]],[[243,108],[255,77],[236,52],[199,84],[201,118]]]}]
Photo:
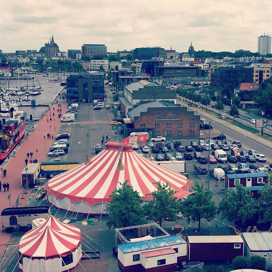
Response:
[{"label": "red paved waterfront promenade with people walking along it", "polygon": [[[67,105],[62,105],[62,114],[65,112]],[[53,111],[54,108],[54,111]],[[25,158],[26,154],[32,152],[33,157],[32,159],[35,159],[37,157],[37,152],[36,150],[38,149],[38,162],[44,161],[49,148],[51,147],[51,144],[53,143],[54,140],[52,139],[47,139],[47,133],[50,133],[50,126],[51,126],[51,134],[55,135],[58,134],[58,130],[61,126],[60,118],[58,118],[58,104],[53,104],[50,107],[50,110],[47,110],[45,112],[43,118],[40,120],[40,122],[33,123],[36,124],[35,126],[35,131],[31,131],[27,137],[27,134],[25,134],[24,139],[21,141],[21,145],[17,146],[15,150],[17,151],[17,154],[15,157],[12,157],[8,163],[7,161],[4,162],[2,165],[3,169],[7,170],[7,176],[5,178],[0,176],[0,180],[2,183],[9,183],[10,188],[9,192],[4,193],[4,190],[2,188],[2,191],[0,192],[0,207],[1,211],[2,209],[8,208],[9,207],[9,200],[8,200],[8,193],[11,194],[11,206],[13,203],[15,203],[17,195],[21,192],[22,190],[22,185],[21,185],[21,172],[25,167]],[[55,113],[55,116],[53,117],[53,112]],[[48,118],[48,122],[47,122]],[[52,118],[52,121],[50,122],[50,118]],[[55,119],[55,122],[53,121]],[[55,129],[54,129],[55,125]],[[45,136],[45,138],[44,138]],[[28,158],[30,160],[30,156]],[[26,198],[28,198],[29,194],[25,195]],[[19,199],[19,203],[21,205],[18,206],[24,206],[25,202],[27,199]],[[9,234],[6,232],[0,232],[0,255],[5,249],[5,244],[8,243],[9,239]]]}]

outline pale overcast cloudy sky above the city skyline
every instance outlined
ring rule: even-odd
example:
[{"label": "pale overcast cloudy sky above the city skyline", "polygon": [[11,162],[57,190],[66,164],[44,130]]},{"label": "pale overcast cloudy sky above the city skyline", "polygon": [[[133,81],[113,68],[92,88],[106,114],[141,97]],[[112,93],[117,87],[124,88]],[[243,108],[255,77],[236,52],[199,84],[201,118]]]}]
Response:
[{"label": "pale overcast cloudy sky above the city skyline", "polygon": [[54,35],[61,51],[84,43],[109,52],[161,46],[257,51],[272,35],[271,0],[13,0],[1,1],[0,49],[39,50]]}]

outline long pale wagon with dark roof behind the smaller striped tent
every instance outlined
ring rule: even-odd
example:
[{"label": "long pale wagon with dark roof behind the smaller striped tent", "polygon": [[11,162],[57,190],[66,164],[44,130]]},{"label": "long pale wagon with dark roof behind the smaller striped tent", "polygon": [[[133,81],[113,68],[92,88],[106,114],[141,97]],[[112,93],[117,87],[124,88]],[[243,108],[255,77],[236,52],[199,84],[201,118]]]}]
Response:
[{"label": "long pale wagon with dark roof behind the smaller striped tent", "polygon": [[7,232],[17,226],[31,228],[34,219],[47,219],[49,215],[49,206],[6,208],[1,212],[2,228],[5,228]]}]

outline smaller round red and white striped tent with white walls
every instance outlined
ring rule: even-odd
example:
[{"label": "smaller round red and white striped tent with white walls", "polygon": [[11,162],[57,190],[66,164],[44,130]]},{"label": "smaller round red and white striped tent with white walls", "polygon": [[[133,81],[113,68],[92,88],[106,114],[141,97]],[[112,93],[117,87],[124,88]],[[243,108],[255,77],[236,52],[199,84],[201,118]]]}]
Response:
[{"label": "smaller round red and white striped tent with white walls", "polygon": [[50,215],[42,225],[22,236],[18,253],[21,272],[72,270],[82,257],[81,232]]}]

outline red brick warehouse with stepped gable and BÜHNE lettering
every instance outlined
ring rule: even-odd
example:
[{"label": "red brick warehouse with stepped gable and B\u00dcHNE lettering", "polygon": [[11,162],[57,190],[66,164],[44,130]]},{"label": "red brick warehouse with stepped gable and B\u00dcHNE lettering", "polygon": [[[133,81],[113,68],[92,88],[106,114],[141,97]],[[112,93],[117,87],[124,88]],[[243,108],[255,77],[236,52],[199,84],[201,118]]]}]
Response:
[{"label": "red brick warehouse with stepped gable and B\u00dcHNE lettering", "polygon": [[200,116],[179,105],[160,101],[142,102],[129,110],[128,116],[134,123],[134,129],[154,131],[153,136],[171,138],[172,131],[173,138],[199,137]]}]

